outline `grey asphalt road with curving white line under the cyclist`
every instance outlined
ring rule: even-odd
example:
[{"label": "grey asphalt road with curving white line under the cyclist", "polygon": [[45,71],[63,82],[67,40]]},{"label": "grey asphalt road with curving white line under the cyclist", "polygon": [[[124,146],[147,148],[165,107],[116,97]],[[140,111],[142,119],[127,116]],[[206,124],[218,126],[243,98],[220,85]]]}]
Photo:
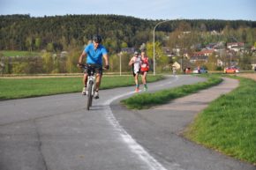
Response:
[{"label": "grey asphalt road with curving white line under the cyclist", "polygon": [[[203,80],[169,77],[148,88]],[[0,101],[0,170],[255,170],[179,136],[192,119],[185,110],[177,116],[166,107],[140,112],[120,106],[133,90],[100,91],[90,111],[80,93]]]}]

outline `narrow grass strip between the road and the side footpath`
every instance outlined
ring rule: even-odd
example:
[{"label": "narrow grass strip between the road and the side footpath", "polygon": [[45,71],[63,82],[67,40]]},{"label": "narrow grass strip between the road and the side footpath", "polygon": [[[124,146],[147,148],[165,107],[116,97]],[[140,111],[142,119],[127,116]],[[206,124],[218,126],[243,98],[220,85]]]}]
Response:
[{"label": "narrow grass strip between the road and the side footpath", "polygon": [[174,100],[179,97],[191,94],[192,92],[198,92],[199,90],[206,89],[213,85],[218,85],[222,82],[222,78],[208,75],[207,81],[200,82],[195,85],[182,85],[176,88],[162,90],[154,93],[142,93],[134,95],[129,99],[122,100],[121,102],[128,108],[131,109],[143,109],[160,105]]}]

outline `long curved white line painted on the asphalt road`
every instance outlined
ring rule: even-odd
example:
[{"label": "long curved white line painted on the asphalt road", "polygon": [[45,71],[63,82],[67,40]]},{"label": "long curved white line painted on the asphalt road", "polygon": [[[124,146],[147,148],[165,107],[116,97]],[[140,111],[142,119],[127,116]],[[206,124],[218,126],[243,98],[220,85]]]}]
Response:
[{"label": "long curved white line painted on the asphalt road", "polygon": [[[175,79],[175,81],[177,81],[177,78]],[[124,140],[124,143],[129,146],[131,151],[134,152],[136,155],[138,155],[139,159],[141,159],[143,162],[147,164],[149,170],[167,170],[164,166],[162,166],[161,163],[159,163],[156,159],[154,159],[154,157],[151,156],[140,144],[138,144],[136,140],[132,138],[131,135],[129,135],[125,131],[125,129],[119,124],[119,122],[117,121],[117,118],[113,115],[111,108],[109,107],[112,101],[122,98],[126,95],[130,95],[132,93],[135,93],[135,92],[126,92],[124,94],[118,95],[104,102],[104,106],[106,106],[106,109],[104,110],[104,112],[107,116],[107,119],[110,122],[110,124],[113,125],[113,127],[118,132],[120,132],[120,136]],[[182,170],[182,169],[179,167],[177,163],[171,163],[169,170]]]}]

